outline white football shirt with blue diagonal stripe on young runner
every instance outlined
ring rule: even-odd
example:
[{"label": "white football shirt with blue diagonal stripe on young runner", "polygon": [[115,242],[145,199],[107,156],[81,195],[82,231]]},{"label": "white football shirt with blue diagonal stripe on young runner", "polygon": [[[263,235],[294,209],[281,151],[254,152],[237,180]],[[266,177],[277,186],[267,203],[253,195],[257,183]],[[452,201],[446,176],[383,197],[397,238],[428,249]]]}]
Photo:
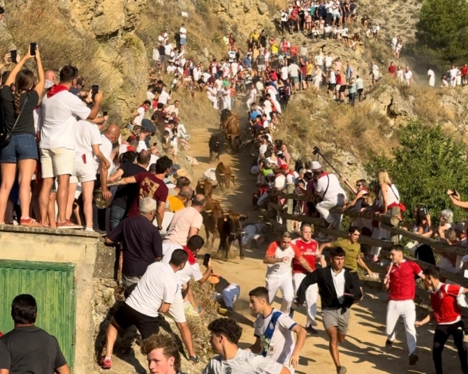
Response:
[{"label": "white football shirt with blue diagonal stripe on young runner", "polygon": [[260,338],[262,350],[267,352],[266,357],[287,366],[295,347],[293,331],[291,329],[296,323],[291,317],[280,312],[281,315],[277,319],[271,339],[265,338],[265,331],[269,328],[268,325],[272,324],[271,320],[275,312],[278,311],[273,308],[272,313],[266,318],[258,315],[255,320],[254,336]]}]

